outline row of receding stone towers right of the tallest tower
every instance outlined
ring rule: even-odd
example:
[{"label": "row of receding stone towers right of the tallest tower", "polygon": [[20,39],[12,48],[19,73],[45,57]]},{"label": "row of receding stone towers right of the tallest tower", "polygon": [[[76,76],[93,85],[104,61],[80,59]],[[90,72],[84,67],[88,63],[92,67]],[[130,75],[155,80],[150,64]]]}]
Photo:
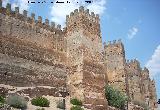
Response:
[{"label": "row of receding stone towers right of the tallest tower", "polygon": [[[149,78],[149,70],[142,70],[136,59],[126,60],[120,41],[105,44],[104,54],[108,83],[128,95],[131,102],[146,104],[150,109],[156,108],[155,83]],[[134,109],[134,106],[132,107],[131,109]]]}]

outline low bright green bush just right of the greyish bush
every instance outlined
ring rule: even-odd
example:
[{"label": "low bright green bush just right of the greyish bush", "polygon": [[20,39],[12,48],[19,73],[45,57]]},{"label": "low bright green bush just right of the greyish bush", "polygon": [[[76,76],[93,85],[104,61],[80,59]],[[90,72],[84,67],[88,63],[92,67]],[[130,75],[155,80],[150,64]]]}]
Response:
[{"label": "low bright green bush just right of the greyish bush", "polygon": [[49,107],[49,100],[44,97],[36,97],[31,100],[32,105],[40,106],[40,107]]}]

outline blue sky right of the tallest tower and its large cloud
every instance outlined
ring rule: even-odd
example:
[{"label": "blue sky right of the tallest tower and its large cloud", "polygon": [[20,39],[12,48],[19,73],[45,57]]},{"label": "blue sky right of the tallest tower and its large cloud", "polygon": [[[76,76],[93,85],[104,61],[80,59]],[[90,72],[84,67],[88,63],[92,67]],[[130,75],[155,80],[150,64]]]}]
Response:
[{"label": "blue sky right of the tallest tower and its large cloud", "polygon": [[152,72],[160,98],[160,0],[108,0],[106,7],[103,41],[121,38],[126,58],[137,58]]}]

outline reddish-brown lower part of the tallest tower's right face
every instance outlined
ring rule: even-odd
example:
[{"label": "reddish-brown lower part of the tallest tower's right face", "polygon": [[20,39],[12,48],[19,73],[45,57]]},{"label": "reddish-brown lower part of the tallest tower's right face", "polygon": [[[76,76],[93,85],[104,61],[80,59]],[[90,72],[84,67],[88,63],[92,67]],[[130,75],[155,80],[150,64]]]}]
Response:
[{"label": "reddish-brown lower part of the tallest tower's right face", "polygon": [[84,60],[82,83],[85,88],[85,106],[92,107],[93,110],[105,110],[107,108],[107,100],[104,94],[106,84],[104,66]]}]

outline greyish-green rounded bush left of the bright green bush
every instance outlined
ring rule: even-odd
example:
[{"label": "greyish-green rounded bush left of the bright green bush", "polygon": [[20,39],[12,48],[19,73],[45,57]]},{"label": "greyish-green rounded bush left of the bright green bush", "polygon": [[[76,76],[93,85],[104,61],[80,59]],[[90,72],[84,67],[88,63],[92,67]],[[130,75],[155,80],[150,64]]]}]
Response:
[{"label": "greyish-green rounded bush left of the bright green bush", "polygon": [[26,100],[19,95],[10,95],[6,100],[6,103],[11,107],[22,109],[22,110],[27,108]]}]

